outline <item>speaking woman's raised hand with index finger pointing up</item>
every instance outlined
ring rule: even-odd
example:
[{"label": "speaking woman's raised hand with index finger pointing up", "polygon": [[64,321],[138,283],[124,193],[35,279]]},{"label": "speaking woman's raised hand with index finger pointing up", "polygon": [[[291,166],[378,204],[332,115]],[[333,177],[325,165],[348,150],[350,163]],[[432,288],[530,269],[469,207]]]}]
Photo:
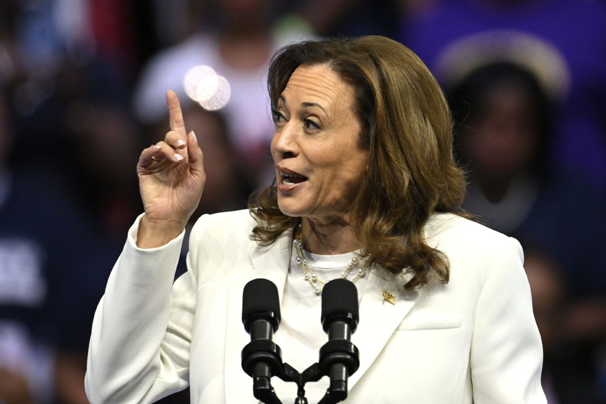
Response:
[{"label": "speaking woman's raised hand with index finger pointing up", "polygon": [[164,141],[145,148],[137,164],[145,214],[137,246],[159,247],[181,234],[204,190],[206,174],[196,135],[185,131],[179,98],[166,94],[170,131]]}]

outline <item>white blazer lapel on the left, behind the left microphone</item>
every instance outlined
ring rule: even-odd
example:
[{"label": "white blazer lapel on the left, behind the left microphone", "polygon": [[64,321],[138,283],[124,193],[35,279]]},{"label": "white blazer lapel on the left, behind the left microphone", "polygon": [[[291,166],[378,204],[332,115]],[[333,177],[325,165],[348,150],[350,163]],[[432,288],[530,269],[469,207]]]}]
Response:
[{"label": "white blazer lapel on the left, behind the left microphone", "polygon": [[227,404],[258,403],[253,396],[253,381],[241,366],[242,348],[250,342],[250,336],[242,325],[242,290],[247,282],[257,278],[271,280],[282,294],[288,274],[293,232],[285,231],[267,247],[251,243],[248,250],[249,270],[230,281],[228,290],[227,325],[225,328],[225,402]]}]

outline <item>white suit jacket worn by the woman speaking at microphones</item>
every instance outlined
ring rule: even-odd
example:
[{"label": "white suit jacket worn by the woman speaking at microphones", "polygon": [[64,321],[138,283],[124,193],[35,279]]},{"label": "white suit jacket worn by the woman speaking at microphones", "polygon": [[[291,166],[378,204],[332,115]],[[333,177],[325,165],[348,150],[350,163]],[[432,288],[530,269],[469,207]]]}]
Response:
[{"label": "white suit jacket worn by the woman speaking at microphones", "polygon": [[[293,232],[261,247],[248,238],[253,225],[246,210],[202,216],[174,285],[183,235],[142,250],[133,225],[95,314],[91,403],[150,403],[187,385],[191,403],[258,403],[241,368],[250,342],[242,288],[269,279],[282,299]],[[451,214],[434,214],[424,231],[450,260],[450,282],[405,292],[404,277],[370,274],[352,336],[360,367],[345,403],[545,403],[519,243]],[[383,288],[395,305],[382,301]]]}]

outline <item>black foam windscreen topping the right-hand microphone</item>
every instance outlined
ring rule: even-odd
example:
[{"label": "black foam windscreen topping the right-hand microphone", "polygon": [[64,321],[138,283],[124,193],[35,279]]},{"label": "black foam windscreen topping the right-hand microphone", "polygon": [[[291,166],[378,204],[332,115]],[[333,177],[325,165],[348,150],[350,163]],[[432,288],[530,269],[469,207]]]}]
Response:
[{"label": "black foam windscreen topping the right-hand microphone", "polygon": [[347,279],[333,279],[322,288],[322,324],[327,316],[353,317],[358,324],[358,290]]}]

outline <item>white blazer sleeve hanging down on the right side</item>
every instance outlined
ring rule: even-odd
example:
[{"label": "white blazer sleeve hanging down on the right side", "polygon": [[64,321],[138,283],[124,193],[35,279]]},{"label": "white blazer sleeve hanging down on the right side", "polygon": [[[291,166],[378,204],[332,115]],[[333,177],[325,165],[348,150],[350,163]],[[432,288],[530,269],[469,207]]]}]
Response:
[{"label": "white blazer sleeve hanging down on the right side", "polygon": [[494,254],[471,338],[475,404],[547,403],[541,387],[543,351],[534,321],[522,247],[507,239]]}]

